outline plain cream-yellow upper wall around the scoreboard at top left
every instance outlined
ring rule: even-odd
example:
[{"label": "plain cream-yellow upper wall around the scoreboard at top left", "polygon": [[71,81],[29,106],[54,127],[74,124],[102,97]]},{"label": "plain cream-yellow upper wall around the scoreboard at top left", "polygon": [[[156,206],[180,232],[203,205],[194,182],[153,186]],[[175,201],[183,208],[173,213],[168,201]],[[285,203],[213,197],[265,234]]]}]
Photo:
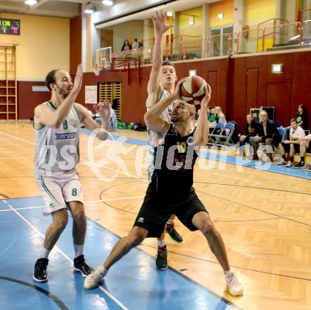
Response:
[{"label": "plain cream-yellow upper wall around the scoreboard at top left", "polygon": [[69,71],[69,18],[5,13],[3,18],[20,20],[20,35],[0,35],[1,43],[18,42],[17,79],[44,79],[54,68]]}]

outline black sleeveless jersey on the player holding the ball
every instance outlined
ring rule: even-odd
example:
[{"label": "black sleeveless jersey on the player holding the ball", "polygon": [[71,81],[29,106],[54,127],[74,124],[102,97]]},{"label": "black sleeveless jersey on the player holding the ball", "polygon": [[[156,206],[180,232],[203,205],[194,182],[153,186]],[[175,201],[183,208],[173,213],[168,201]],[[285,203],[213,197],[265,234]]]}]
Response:
[{"label": "black sleeveless jersey on the player holding the ball", "polygon": [[170,125],[168,133],[155,147],[155,170],[147,194],[165,201],[178,201],[188,195],[193,185],[193,168],[197,159],[193,130],[181,137]]}]

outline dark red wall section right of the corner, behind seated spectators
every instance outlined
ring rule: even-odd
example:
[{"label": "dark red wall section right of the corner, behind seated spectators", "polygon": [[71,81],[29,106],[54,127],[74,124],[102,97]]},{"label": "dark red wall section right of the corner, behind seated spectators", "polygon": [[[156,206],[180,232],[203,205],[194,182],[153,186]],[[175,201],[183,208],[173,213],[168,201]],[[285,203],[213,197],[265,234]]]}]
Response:
[{"label": "dark red wall section right of the corner, behind seated spectators", "polygon": [[[283,64],[283,74],[272,74],[271,64]],[[289,52],[230,59],[228,115],[245,122],[250,108],[274,106],[276,123],[290,125],[298,105],[307,107],[311,125],[311,52]],[[311,127],[309,125],[309,127]]]}]

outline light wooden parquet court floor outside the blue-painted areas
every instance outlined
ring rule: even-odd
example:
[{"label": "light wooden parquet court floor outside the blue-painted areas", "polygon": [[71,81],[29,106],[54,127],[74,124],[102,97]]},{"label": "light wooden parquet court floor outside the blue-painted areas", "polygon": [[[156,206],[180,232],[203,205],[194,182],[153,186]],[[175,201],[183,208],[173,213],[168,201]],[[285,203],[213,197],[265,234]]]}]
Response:
[{"label": "light wooden parquet court floor outside the blue-painted areas", "polygon": [[[83,132],[78,171],[86,214],[125,236],[148,185],[146,147],[135,144],[146,141],[146,132],[114,133],[131,138],[126,142],[93,141]],[[0,124],[0,198],[40,196],[33,177],[34,142],[29,123]],[[178,220],[184,241],[175,243],[167,235],[170,266],[242,309],[311,309],[310,180],[238,170],[230,163],[203,159],[200,166],[196,163],[194,187],[221,232],[244,296],[230,297],[204,237],[187,231]],[[140,248],[155,256],[156,240],[146,239]]]}]

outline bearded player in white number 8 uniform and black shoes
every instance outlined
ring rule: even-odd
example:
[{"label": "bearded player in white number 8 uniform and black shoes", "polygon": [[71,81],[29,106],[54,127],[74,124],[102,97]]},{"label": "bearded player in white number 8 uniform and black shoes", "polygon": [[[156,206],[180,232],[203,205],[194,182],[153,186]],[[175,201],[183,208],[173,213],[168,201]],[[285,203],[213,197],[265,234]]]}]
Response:
[{"label": "bearded player in white number 8 uniform and black shoes", "polygon": [[[40,258],[35,263],[33,280],[47,281],[49,253],[68,222],[67,207],[73,218],[74,270],[86,277],[93,271],[86,264],[83,245],[86,237],[86,215],[83,193],[76,170],[79,161],[79,130],[81,122],[88,130],[100,127],[88,114],[88,110],[74,103],[81,90],[83,72],[78,65],[74,84],[63,70],[52,70],[45,84],[51,91],[51,99],[35,108],[36,130],[35,178],[45,200],[43,214],[52,214],[52,224],[45,233]],[[102,132],[97,137],[107,139],[109,129],[109,103],[98,103],[96,113],[102,117]]]}]

